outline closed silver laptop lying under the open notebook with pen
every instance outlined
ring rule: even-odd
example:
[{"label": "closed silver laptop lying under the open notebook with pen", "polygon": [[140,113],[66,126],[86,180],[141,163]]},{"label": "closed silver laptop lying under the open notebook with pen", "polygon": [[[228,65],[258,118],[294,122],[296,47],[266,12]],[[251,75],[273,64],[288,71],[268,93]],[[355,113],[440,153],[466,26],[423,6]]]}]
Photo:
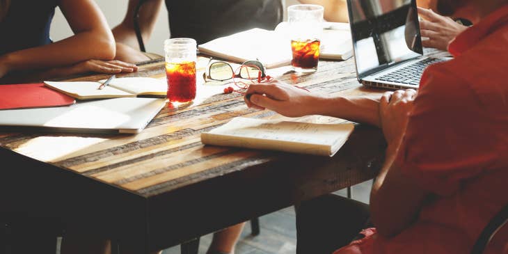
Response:
[{"label": "closed silver laptop lying under the open notebook with pen", "polygon": [[164,105],[164,99],[122,97],[71,106],[0,110],[0,130],[136,134]]}]

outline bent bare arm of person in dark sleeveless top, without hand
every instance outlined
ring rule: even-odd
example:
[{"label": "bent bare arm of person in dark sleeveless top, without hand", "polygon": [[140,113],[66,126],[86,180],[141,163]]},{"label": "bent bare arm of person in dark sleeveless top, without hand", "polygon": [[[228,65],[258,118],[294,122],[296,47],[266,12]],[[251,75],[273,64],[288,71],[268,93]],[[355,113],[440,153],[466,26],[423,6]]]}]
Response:
[{"label": "bent bare arm of person in dark sleeveless top, without hand", "polygon": [[0,56],[3,73],[13,70],[47,69],[88,59],[111,60],[115,41],[109,26],[93,0],[61,0],[60,8],[74,35],[41,47]]}]

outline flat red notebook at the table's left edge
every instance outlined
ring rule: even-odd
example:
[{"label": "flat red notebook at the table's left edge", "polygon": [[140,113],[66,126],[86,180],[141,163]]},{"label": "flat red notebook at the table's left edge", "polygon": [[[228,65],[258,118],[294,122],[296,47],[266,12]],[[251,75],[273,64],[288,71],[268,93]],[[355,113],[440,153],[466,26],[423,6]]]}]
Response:
[{"label": "flat red notebook at the table's left edge", "polygon": [[26,109],[74,104],[73,97],[44,84],[0,85],[0,109]]}]

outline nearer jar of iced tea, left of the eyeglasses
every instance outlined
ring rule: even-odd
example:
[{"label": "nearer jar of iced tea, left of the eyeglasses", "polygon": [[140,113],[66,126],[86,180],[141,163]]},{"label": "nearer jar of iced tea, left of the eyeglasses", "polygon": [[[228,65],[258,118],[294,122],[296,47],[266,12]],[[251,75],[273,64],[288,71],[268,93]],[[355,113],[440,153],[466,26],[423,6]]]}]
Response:
[{"label": "nearer jar of iced tea, left of the eyeglasses", "polygon": [[164,41],[166,78],[170,102],[191,102],[196,98],[196,40],[173,38]]}]

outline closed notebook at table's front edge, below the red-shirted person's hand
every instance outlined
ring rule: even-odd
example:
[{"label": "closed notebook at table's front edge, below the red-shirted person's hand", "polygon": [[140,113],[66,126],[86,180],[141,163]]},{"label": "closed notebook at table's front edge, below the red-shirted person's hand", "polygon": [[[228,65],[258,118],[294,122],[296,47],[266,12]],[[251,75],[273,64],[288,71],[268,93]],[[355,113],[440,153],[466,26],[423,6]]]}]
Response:
[{"label": "closed notebook at table's front edge, below the red-shirted person's hand", "polygon": [[202,133],[201,142],[331,157],[344,145],[353,129],[351,123],[317,124],[238,117]]}]

